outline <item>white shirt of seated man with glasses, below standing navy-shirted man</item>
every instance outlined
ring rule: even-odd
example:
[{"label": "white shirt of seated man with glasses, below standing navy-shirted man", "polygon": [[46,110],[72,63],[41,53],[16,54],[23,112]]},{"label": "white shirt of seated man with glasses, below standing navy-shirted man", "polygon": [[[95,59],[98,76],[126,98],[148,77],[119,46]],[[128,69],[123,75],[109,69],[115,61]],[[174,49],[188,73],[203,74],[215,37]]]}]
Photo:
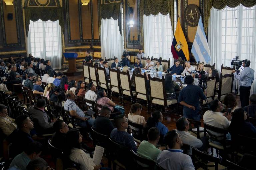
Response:
[{"label": "white shirt of seated man with glasses, below standing navy-shirted man", "polygon": [[[188,144],[194,147],[201,147],[203,145],[203,142],[196,138],[195,136],[193,136],[191,133],[187,132],[187,131],[180,131],[177,130],[177,133],[179,133],[179,136],[182,140],[182,143]],[[190,148],[188,150],[188,155],[192,155],[192,149]]]}]

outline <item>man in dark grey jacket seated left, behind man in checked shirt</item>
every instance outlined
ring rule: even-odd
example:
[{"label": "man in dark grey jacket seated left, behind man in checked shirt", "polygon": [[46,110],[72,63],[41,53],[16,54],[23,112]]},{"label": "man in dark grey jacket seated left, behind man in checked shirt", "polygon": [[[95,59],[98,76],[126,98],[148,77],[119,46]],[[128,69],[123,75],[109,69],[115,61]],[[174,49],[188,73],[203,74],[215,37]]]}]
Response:
[{"label": "man in dark grey jacket seated left, behind man in checked shirt", "polygon": [[45,106],[45,100],[38,99],[36,105],[28,108],[28,113],[33,119],[37,119],[38,125],[41,128],[39,130],[41,130],[42,133],[53,133],[53,124],[56,122],[56,119],[54,118],[53,121],[51,120],[48,114],[44,111]]}]

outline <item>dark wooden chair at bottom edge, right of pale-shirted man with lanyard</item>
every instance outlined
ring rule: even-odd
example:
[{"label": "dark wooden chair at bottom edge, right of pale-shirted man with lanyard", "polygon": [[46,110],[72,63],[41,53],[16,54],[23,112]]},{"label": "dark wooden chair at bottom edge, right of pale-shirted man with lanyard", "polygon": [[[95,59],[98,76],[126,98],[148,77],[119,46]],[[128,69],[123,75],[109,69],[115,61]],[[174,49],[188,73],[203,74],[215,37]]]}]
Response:
[{"label": "dark wooden chair at bottom edge, right of pale-shirted man with lanyard", "polygon": [[[220,165],[221,158],[208,155],[200,150],[192,147],[192,161],[195,167],[200,167],[199,169],[224,169],[226,167]],[[198,169],[198,170],[199,170]]]}]

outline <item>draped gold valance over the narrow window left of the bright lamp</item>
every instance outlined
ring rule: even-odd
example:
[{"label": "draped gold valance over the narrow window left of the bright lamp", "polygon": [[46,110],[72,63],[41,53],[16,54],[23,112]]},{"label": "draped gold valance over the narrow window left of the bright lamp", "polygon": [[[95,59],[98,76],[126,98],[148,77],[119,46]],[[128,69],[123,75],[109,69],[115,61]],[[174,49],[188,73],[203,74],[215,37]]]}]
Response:
[{"label": "draped gold valance over the narrow window left of the bright lamp", "polygon": [[[122,35],[122,19],[121,19],[120,3],[102,4],[100,8],[101,8],[100,15],[103,20],[110,19],[111,17],[114,20],[118,20],[119,32]],[[100,25],[101,25],[101,19],[100,19]]]}]

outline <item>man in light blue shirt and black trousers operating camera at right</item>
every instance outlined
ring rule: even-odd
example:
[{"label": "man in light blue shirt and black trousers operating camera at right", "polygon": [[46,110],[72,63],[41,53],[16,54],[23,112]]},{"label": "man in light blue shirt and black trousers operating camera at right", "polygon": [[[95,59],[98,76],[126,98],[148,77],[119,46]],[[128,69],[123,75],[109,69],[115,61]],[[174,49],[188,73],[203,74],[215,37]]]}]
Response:
[{"label": "man in light blue shirt and black trousers operating camera at right", "polygon": [[232,70],[235,78],[239,80],[240,101],[242,108],[249,105],[250,90],[254,80],[254,70],[249,67],[250,64],[250,60],[244,60],[244,70],[240,75],[237,75],[236,71]]}]

